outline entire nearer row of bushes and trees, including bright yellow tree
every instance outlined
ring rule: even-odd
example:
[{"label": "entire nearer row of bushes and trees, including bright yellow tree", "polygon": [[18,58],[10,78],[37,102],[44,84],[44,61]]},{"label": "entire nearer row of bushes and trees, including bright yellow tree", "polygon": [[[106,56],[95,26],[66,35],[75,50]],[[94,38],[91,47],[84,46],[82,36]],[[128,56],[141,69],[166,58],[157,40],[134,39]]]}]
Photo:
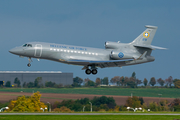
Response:
[{"label": "entire nearer row of bushes and trees, including bright yellow tree", "polygon": [[[19,96],[17,99],[8,103],[0,103],[0,108],[8,106],[7,111],[11,112],[42,112],[48,111],[49,104],[40,101],[41,94],[33,93],[31,96]],[[91,107],[92,104],[92,107]],[[130,108],[142,108],[147,111],[180,111],[180,99],[174,99],[172,102],[159,100],[159,102],[144,102],[143,97],[128,97],[124,105],[118,106],[113,97],[94,97],[93,99],[81,98],[77,100],[63,100],[51,103],[51,108],[55,112],[74,112],[74,111],[127,111]],[[130,109],[132,110],[132,109]]]}]

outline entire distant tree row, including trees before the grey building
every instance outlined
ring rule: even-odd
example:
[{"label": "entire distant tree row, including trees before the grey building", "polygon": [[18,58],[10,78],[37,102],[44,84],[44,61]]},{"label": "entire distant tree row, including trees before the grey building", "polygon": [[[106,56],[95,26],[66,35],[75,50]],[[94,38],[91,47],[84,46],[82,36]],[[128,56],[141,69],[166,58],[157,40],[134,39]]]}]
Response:
[{"label": "entire distant tree row, including trees before the grey building", "polygon": [[[169,76],[167,79],[163,80],[162,78],[155,79],[155,77],[151,77],[148,81],[146,78],[144,80],[139,80],[136,78],[136,73],[133,72],[131,77],[124,76],[115,76],[110,80],[108,77],[104,78],[96,78],[95,81],[90,80],[89,78],[85,78],[84,80],[80,77],[73,78],[72,85],[63,85],[56,84],[55,82],[47,81],[45,84],[42,83],[42,77],[37,77],[34,82],[23,83],[22,87],[25,88],[43,88],[43,87],[54,87],[54,88],[63,88],[63,87],[97,87],[97,86],[117,86],[117,87],[129,87],[129,88],[137,88],[137,87],[147,87],[147,86],[155,86],[159,85],[161,87],[175,87],[180,88],[180,79],[173,79],[172,76]],[[11,87],[11,82],[7,81],[5,87]],[[14,87],[21,87],[21,82],[18,78],[14,80]]]}]

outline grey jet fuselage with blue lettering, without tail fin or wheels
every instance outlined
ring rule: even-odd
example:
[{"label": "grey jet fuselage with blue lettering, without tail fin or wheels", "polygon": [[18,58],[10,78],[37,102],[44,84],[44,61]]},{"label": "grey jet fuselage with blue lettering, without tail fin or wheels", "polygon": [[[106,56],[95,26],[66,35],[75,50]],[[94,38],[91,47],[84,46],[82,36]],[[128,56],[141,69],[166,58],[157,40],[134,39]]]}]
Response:
[{"label": "grey jet fuselage with blue lettering, without tail fin or wheels", "polygon": [[[113,48],[106,42],[106,49],[45,43],[45,42],[29,42],[26,45],[11,49],[9,52],[29,58],[48,59],[66,64],[91,66],[96,67],[121,67],[127,65],[140,64],[145,62],[154,61],[154,57],[151,56],[151,49],[134,47],[132,44],[116,43],[118,48]],[[144,51],[147,51],[146,56],[143,59],[138,59]],[[117,54],[116,54],[117,52]],[[124,57],[119,58],[118,54],[122,52]],[[117,59],[116,59],[117,58]],[[134,59],[133,61],[123,62],[105,62],[105,63],[89,63],[86,61],[111,61],[111,60],[123,60]],[[137,60],[136,60],[137,59]],[[72,61],[70,61],[72,60]],[[81,60],[83,62],[77,62],[73,60]]]}]

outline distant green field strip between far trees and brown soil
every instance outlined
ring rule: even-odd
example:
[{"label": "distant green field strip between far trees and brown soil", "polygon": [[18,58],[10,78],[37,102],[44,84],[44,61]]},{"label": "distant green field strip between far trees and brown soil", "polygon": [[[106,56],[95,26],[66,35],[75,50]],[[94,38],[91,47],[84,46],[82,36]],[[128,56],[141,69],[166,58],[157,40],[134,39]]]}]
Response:
[{"label": "distant green field strip between far trees and brown soil", "polygon": [[176,88],[0,88],[0,92],[36,92],[64,93],[64,94],[95,94],[95,95],[120,95],[142,97],[180,98],[180,89]]}]

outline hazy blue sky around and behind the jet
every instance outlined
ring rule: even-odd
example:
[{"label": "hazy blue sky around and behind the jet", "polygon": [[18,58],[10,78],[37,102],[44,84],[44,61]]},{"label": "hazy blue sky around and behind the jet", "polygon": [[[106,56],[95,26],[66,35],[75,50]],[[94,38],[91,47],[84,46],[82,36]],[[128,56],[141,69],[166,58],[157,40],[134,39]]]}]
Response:
[{"label": "hazy blue sky around and behind the jet", "polygon": [[[180,1],[179,0],[0,0],[0,71],[62,71],[74,77],[128,76],[136,72],[143,80],[151,77],[180,78]],[[129,43],[145,30],[158,26],[152,45],[154,62],[123,68],[98,69],[86,75],[81,66],[19,58],[9,49],[26,42],[52,42],[104,49],[106,41]]]}]

